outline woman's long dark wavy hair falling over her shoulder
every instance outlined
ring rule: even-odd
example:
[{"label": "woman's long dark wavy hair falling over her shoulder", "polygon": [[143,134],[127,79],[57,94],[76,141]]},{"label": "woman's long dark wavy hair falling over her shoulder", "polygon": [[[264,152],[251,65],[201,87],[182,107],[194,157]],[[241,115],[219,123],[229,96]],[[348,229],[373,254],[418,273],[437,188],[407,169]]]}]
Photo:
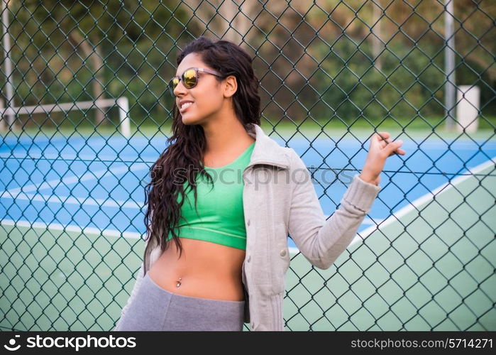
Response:
[{"label": "woman's long dark wavy hair falling over her shoulder", "polygon": [[[219,72],[221,77],[216,77],[219,82],[229,75],[236,77],[238,88],[232,97],[236,118],[247,131],[251,124],[260,125],[258,77],[253,72],[252,59],[248,53],[228,40],[214,42],[205,36],[186,45],[177,56],[177,65],[180,65],[189,53],[197,53],[208,67]],[[200,164],[206,148],[203,127],[199,124],[183,124],[176,104],[173,107],[173,114],[172,136],[167,138],[169,144],[150,168],[151,180],[145,187],[145,204],[148,203],[148,208],[144,222],[147,240],[155,239],[162,251],[168,248],[170,241],[174,240],[181,256],[182,245],[175,229],[179,228],[180,210],[185,199],[184,182],[187,180],[187,185],[194,191],[196,209],[196,173],[204,175],[210,181],[212,179]],[[177,172],[182,173],[179,175]],[[173,239],[166,241],[169,232],[172,233]],[[147,271],[146,254],[152,245],[150,242],[151,240],[147,243],[143,257],[145,272]]]}]

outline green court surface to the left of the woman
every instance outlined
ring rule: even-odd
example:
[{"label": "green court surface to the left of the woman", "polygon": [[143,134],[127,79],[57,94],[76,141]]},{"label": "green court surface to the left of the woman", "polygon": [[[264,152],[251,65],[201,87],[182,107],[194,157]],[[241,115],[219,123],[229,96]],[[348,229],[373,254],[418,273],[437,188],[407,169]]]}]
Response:
[{"label": "green court surface to the left of the woman", "polygon": [[113,328],[131,293],[143,241],[2,227],[1,329]]}]

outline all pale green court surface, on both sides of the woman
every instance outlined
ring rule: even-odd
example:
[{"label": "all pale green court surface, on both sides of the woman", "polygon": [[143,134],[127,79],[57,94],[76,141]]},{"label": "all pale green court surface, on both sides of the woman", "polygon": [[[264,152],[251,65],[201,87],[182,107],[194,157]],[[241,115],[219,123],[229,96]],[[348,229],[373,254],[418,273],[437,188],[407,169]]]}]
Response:
[{"label": "all pale green court surface, on both sides of the woman", "polygon": [[[285,329],[496,330],[496,188],[482,177],[493,170],[453,180],[435,199],[360,234],[365,240],[328,270],[292,256]],[[1,228],[1,329],[114,327],[143,241],[57,226]]]}]

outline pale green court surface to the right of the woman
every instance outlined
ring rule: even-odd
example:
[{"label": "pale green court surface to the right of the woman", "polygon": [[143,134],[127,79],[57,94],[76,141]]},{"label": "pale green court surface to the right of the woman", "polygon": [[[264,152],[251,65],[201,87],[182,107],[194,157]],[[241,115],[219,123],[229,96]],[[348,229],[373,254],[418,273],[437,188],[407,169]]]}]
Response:
[{"label": "pale green court surface to the right of the woman", "polygon": [[294,256],[286,329],[496,330],[496,184],[459,181],[382,223],[326,271]]}]

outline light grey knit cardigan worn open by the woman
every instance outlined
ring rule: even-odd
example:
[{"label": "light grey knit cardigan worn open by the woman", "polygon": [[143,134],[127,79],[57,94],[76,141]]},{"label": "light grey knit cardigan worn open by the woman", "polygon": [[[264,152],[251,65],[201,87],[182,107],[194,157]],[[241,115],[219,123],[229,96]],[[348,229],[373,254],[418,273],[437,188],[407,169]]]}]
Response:
[{"label": "light grey knit cardigan worn open by the woman", "polygon": [[[288,232],[299,251],[317,268],[329,268],[351,243],[380,186],[353,176],[340,206],[326,219],[309,170],[292,148],[280,146],[253,124],[255,138],[250,163],[243,170],[246,256],[243,261],[245,322],[250,330],[284,330],[282,305],[285,274],[290,266]],[[148,245],[131,296],[136,296],[145,272],[160,256],[160,246]],[[147,261],[147,262],[145,262]],[[119,322],[114,330],[119,330]]]}]

